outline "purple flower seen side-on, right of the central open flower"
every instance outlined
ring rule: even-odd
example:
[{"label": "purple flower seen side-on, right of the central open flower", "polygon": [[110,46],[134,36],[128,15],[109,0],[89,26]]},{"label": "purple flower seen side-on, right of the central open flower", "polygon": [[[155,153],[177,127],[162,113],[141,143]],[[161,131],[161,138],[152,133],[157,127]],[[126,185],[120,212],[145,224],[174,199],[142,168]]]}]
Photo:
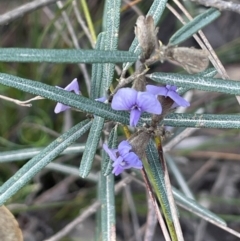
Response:
[{"label": "purple flower seen side-on, right of the central open flower", "polygon": [[146,89],[148,92],[154,95],[163,95],[165,97],[170,97],[177,106],[188,107],[190,106],[189,102],[183,99],[177,93],[177,87],[175,85],[166,85],[166,87],[159,87],[155,85],[147,85]]}]

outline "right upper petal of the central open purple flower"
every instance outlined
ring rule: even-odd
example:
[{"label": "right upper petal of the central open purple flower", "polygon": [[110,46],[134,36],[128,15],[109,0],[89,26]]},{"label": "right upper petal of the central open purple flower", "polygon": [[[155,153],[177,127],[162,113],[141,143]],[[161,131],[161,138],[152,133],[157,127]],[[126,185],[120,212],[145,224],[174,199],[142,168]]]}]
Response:
[{"label": "right upper petal of the central open purple flower", "polygon": [[155,95],[149,92],[138,92],[137,105],[142,112],[146,111],[151,114],[161,114],[162,106]]}]

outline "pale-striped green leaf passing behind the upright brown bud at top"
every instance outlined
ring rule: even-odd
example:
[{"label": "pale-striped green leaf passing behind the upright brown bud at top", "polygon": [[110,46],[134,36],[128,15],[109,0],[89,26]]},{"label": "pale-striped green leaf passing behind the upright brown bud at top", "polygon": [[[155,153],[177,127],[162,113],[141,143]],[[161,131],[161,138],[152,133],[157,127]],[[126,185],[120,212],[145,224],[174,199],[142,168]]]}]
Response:
[{"label": "pale-striped green leaf passing behind the upright brown bud at top", "polygon": [[[147,16],[151,15],[153,17],[155,25],[157,25],[157,23],[159,22],[162,14],[163,14],[163,11],[166,7],[166,4],[167,4],[167,0],[155,0],[153,2],[153,4],[151,5],[151,7],[147,13]],[[129,51],[138,56],[140,55],[141,48],[140,48],[140,45],[139,45],[136,37],[134,38],[134,40],[129,48]],[[127,70],[132,64],[133,64],[133,62],[131,62],[131,61],[124,63],[123,70]]]}]

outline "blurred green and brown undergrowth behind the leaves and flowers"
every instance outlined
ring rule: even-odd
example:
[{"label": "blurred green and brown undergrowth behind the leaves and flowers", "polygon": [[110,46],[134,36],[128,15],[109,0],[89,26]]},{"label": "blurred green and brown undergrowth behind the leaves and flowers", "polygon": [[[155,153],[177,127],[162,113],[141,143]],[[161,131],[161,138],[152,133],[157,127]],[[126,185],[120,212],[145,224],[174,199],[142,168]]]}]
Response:
[{"label": "blurred green and brown undergrowth behind the leaves and flowers", "polygon": [[[29,1],[1,0],[0,15],[27,2]],[[77,8],[84,18],[82,1],[76,0],[76,5],[72,3],[72,0],[62,1],[63,9],[74,29],[80,48],[91,49],[91,43],[80,27],[74,11],[74,8]],[[128,50],[134,38],[136,19],[138,15],[147,13],[151,3],[152,1],[140,1],[129,6],[128,1],[123,1],[119,33],[120,50]],[[104,1],[89,0],[87,4],[97,35],[101,32]],[[169,4],[176,7],[171,1]],[[188,1],[185,1],[185,6],[193,16],[204,9]],[[0,25],[0,47],[74,48],[62,14],[63,10],[56,4],[51,4]],[[219,19],[203,30],[230,78],[235,80],[240,80],[239,22],[240,15],[223,12]],[[159,39],[167,44],[171,35],[180,27],[181,24],[176,17],[166,9],[159,23]],[[186,41],[183,46],[198,47],[193,39]],[[86,65],[86,69],[90,75],[91,65]],[[78,78],[82,94],[87,96],[84,76],[76,64],[0,63],[0,71],[61,87]],[[151,71],[183,72],[170,63],[155,64]],[[0,95],[19,100],[33,97],[3,85],[0,85]],[[0,99],[0,151],[45,147],[60,133],[85,118],[82,113],[74,111],[56,115],[53,112],[55,105],[56,103],[49,100],[39,100],[33,102],[31,108],[27,108]],[[213,114],[239,112],[239,104],[234,96],[194,91],[191,107],[187,111],[193,112],[199,108],[202,108],[204,113]],[[79,143],[84,141],[82,138]],[[207,203],[212,211],[229,223],[231,228],[240,232],[239,143],[239,130],[201,129],[180,143],[171,154],[198,201],[202,204]],[[80,160],[81,153],[61,156],[55,162],[78,168]],[[26,161],[23,159],[18,162],[1,163],[0,183],[11,177]],[[100,162],[97,156],[94,171],[97,173],[99,170]],[[97,178],[97,174],[95,177]],[[172,183],[178,187],[174,177]],[[78,216],[81,209],[96,199],[96,190],[96,179],[83,180],[77,176],[45,169],[9,200],[8,207],[19,221],[24,240],[41,241],[61,230]],[[131,186],[131,190],[139,222],[144,225],[147,213],[145,189],[135,184]],[[125,208],[125,195],[123,191],[116,197],[119,240],[130,240],[133,235],[130,228],[132,221],[129,218],[131,211]],[[186,240],[199,240],[196,238],[196,232],[199,232],[201,221],[181,209],[180,214]],[[236,240],[234,236],[210,224],[205,224],[205,229],[203,225],[202,230],[206,230],[202,240]],[[62,240],[92,240],[94,232],[94,218],[90,218]],[[131,240],[136,239],[132,237]],[[160,230],[157,230],[154,240],[162,240]]]}]

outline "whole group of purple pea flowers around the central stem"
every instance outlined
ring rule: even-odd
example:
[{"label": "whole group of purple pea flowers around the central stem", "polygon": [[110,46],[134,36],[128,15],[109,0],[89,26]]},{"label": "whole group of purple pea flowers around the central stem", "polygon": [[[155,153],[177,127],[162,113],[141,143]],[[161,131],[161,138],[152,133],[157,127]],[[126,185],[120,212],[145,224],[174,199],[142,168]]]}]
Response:
[{"label": "whole group of purple pea flowers around the central stem", "polygon": [[[60,87],[57,87],[60,88]],[[75,94],[80,94],[77,79],[74,79],[66,88],[66,91],[74,91]],[[121,88],[113,96],[111,107],[114,110],[126,110],[130,112],[130,126],[136,126],[140,116],[143,112],[160,115],[162,113],[162,106],[157,96],[164,96],[171,98],[174,103],[173,106],[189,106],[189,102],[183,99],[177,93],[177,87],[166,85],[165,87],[158,87],[154,85],[147,85],[146,91],[137,91],[132,88]],[[96,99],[96,101],[104,102],[105,97]],[[61,103],[57,103],[54,112],[56,114],[69,109]],[[125,169],[137,168],[142,169],[143,165],[139,157],[132,151],[132,146],[128,141],[122,141],[117,149],[110,149],[106,144],[103,144],[103,149],[113,161],[112,173],[116,176],[122,173]]]}]

